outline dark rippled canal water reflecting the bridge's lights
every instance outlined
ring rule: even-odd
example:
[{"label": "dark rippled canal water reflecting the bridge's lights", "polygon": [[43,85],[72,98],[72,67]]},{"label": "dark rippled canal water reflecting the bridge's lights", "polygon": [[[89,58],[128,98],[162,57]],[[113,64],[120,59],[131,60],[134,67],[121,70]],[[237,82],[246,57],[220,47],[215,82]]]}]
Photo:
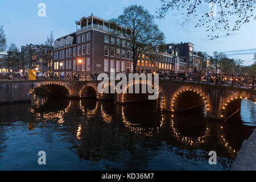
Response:
[{"label": "dark rippled canal water reflecting the bridge's lights", "polygon": [[205,118],[203,107],[156,114],[152,102],[33,97],[0,106],[0,170],[229,170],[256,126],[248,100],[224,123]]}]

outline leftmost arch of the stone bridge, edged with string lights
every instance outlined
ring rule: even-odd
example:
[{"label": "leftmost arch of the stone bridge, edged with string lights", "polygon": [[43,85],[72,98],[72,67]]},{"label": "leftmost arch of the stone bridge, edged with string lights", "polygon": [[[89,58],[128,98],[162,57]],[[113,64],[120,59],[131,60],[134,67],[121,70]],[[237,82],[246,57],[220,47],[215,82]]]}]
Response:
[{"label": "leftmost arch of the stone bridge, edged with string lights", "polygon": [[33,94],[37,89],[40,88],[46,88],[47,93],[53,94],[56,96],[64,96],[64,97],[71,97],[71,88],[65,83],[62,82],[43,82],[43,83],[38,83],[36,84],[32,89],[30,89],[29,93]]}]

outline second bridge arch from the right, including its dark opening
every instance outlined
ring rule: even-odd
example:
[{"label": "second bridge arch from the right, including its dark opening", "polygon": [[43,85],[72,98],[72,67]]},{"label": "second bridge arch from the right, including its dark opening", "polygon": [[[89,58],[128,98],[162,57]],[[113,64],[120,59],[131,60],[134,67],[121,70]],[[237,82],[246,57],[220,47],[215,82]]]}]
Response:
[{"label": "second bridge arch from the right, including its dark opening", "polygon": [[[189,100],[190,102],[188,102]],[[207,114],[210,110],[209,98],[202,90],[195,88],[192,89],[184,86],[178,89],[171,98],[171,111],[173,113],[192,109],[200,105],[205,106],[205,114]]]}]

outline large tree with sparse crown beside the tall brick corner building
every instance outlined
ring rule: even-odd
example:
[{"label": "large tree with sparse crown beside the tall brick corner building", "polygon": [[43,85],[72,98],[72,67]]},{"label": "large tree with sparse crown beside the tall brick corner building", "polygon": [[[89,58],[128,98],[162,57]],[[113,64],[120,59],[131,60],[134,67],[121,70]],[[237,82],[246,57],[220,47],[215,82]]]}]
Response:
[{"label": "large tree with sparse crown beside the tall brick corner building", "polygon": [[164,44],[164,34],[155,24],[154,16],[142,6],[131,5],[123,9],[122,15],[111,19],[115,35],[126,39],[133,53],[133,71],[136,72],[137,61],[143,55],[156,52],[157,46]]}]

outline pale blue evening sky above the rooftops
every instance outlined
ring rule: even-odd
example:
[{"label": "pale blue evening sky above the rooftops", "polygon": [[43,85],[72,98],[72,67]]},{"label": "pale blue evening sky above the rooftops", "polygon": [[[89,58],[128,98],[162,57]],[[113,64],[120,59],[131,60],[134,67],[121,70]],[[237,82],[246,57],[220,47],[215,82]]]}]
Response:
[{"label": "pale blue evening sky above the rooftops", "polygon": [[[46,4],[46,17],[38,16],[38,4]],[[4,26],[7,44],[13,42],[19,47],[32,43],[44,43],[50,31],[55,38],[76,31],[75,21],[82,16],[92,13],[103,19],[117,18],[127,5],[144,6],[151,14],[155,14],[159,0],[1,0],[0,26]],[[208,5],[202,6],[200,11],[208,11]],[[240,31],[232,32],[229,36],[221,36],[209,40],[205,27],[195,28],[195,20],[181,26],[183,18],[176,12],[170,12],[163,20],[156,19],[160,30],[166,35],[167,43],[192,42],[196,51],[205,51],[212,55],[213,51],[226,52],[230,58],[245,60],[245,65],[253,63],[256,53],[256,21],[244,24]]]}]

